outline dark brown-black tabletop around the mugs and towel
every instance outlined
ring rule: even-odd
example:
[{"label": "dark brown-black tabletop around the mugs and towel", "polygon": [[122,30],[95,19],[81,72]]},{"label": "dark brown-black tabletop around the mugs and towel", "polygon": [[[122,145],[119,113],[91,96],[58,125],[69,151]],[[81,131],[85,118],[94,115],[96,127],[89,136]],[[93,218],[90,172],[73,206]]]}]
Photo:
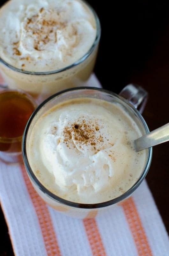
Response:
[{"label": "dark brown-black tabletop around the mugs and towel", "polygon": [[[90,0],[99,14],[102,38],[95,73],[104,88],[116,93],[128,83],[149,92],[143,113],[150,130],[169,122],[169,3],[127,2],[107,8]],[[153,148],[146,180],[169,232],[169,142]],[[0,256],[13,255],[0,211]],[[117,255],[118,256],[118,255]]]}]

